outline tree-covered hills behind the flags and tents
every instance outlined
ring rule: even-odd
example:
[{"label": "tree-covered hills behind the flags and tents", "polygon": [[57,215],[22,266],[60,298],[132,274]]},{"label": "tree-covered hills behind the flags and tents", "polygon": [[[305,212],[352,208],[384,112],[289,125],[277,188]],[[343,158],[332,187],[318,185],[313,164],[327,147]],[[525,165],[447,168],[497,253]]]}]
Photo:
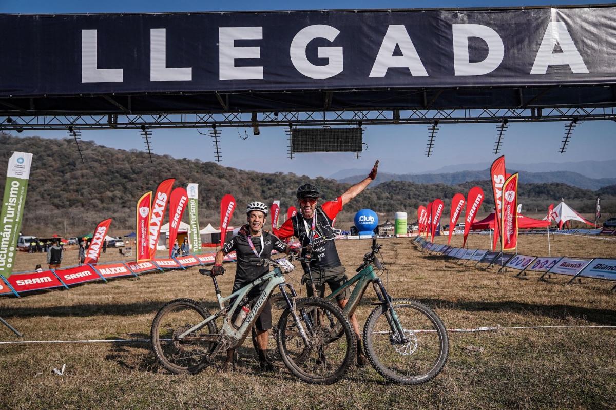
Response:
[{"label": "tree-covered hills behind the flags and tents", "polygon": [[[199,160],[176,159],[155,155],[153,163],[140,151],[124,151],[83,142],[85,164],[70,139],[52,140],[37,137],[18,138],[0,136],[0,184],[4,188],[7,161],[12,151],[33,153],[33,167],[28,185],[28,196],[22,231],[47,235],[63,233],[80,235],[91,231],[95,223],[113,217],[115,229],[134,229],[134,206],[137,198],[168,177],[176,178],[176,186],[189,182],[199,183],[200,225],[219,224],[219,201],[226,193],[237,199],[237,211],[232,223],[243,219],[243,208],[248,201],[261,200],[267,204],[280,199],[283,211],[295,204],[294,194],[301,183],[314,183],[322,190],[324,199],[331,199],[346,190],[348,183],[332,179],[310,179],[294,174],[262,174],[220,166]],[[392,212],[407,211],[409,220],[416,217],[416,209],[431,199],[442,198],[448,205],[456,192],[466,194],[474,185],[484,188],[488,198],[490,187],[486,179],[458,185],[423,184],[407,181],[389,181],[358,196],[345,208],[338,220],[348,225],[352,215],[364,207],[383,213],[383,219],[392,218]],[[549,203],[565,198],[580,212],[593,212],[597,192],[570,187],[562,183],[522,183],[520,202],[524,212],[545,211]],[[616,212],[614,187],[601,190],[602,213]],[[483,211],[488,212],[486,200]],[[448,207],[445,209],[448,214]]]}]

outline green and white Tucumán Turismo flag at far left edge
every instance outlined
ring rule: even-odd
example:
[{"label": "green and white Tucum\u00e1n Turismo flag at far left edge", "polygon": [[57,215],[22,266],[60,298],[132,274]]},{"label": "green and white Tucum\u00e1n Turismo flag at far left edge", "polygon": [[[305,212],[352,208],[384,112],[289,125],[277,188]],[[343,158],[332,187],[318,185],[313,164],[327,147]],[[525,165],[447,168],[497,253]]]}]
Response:
[{"label": "green and white Tucum\u00e1n Turismo flag at far left edge", "polygon": [[9,158],[0,212],[0,275],[5,278],[13,271],[31,165],[30,153],[15,151]]}]

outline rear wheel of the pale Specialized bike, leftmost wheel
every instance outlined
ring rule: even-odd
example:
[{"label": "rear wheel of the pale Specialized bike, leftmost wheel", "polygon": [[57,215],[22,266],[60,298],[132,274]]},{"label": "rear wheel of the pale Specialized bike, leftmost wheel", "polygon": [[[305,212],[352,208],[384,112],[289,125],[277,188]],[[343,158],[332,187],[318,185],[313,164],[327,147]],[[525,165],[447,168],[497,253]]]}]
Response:
[{"label": "rear wheel of the pale Specialized bike, leftmost wheel", "polygon": [[[208,310],[192,299],[172,300],[156,313],[150,332],[152,352],[165,369],[176,374],[195,374],[207,366],[216,343],[182,342],[177,336],[209,316]],[[212,320],[188,336],[216,333],[216,323]]]}]

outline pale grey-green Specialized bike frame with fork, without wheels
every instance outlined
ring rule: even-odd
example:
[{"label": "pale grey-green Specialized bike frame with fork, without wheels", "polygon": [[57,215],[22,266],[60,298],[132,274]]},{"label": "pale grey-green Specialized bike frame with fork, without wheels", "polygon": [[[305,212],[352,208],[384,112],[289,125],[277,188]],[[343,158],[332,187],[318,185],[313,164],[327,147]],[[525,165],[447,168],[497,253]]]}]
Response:
[{"label": "pale grey-green Specialized bike frame with fork, without wheels", "polygon": [[[241,324],[240,328],[239,329],[233,328],[231,324],[232,315],[226,315],[224,323],[222,325],[222,329],[216,335],[216,336],[224,335],[224,336],[232,337],[233,339],[237,340],[236,342],[236,345],[237,345],[248,334],[249,329],[253,326],[254,321],[256,320],[256,318],[259,316],[259,314],[263,310],[265,301],[267,301],[267,298],[269,297],[270,294],[272,294],[276,286],[278,286],[280,288],[280,292],[283,295],[285,295],[285,299],[289,307],[292,307],[293,305],[291,303],[291,300],[289,300],[288,297],[286,297],[286,293],[284,292],[284,287],[285,286],[290,287],[291,294],[293,295],[293,297],[296,296],[293,286],[286,283],[285,277],[283,276],[283,272],[282,270],[280,270],[280,268],[275,268],[271,272],[266,273],[265,275],[261,276],[261,278],[252,281],[251,283],[247,284],[241,289],[238,289],[238,291],[233,292],[227,297],[221,296],[221,291],[218,287],[216,277],[213,276],[212,279],[214,281],[214,288],[216,290],[216,298],[218,299],[218,304],[221,307],[221,310],[219,312],[214,313],[213,315],[208,316],[208,318],[206,318],[205,320],[201,321],[200,323],[196,324],[195,326],[188,329],[184,333],[180,334],[177,337],[177,339],[182,340],[185,337],[187,337],[188,334],[191,334],[192,332],[196,332],[200,329],[203,329],[206,326],[206,324],[209,323],[209,321],[215,320],[218,316],[222,316],[227,312],[235,312],[237,308],[240,306],[241,301],[248,294],[248,292],[251,291],[251,289],[253,289],[256,286],[261,285],[262,283],[267,282],[265,289],[261,292],[261,295],[259,295],[258,299],[254,303],[254,306],[251,308],[250,312],[248,312],[248,315],[246,315],[246,319]],[[224,303],[227,302],[228,300],[233,299],[234,297],[235,297],[235,302],[233,302],[233,305],[225,307]],[[295,312],[293,312],[293,310],[291,310],[291,313],[292,313],[292,316],[294,316],[296,323],[298,324],[298,331],[300,335],[302,336],[302,339],[304,339],[304,342],[306,342],[306,344],[309,344],[309,340],[306,335],[306,332],[304,331],[304,328],[302,327],[301,323],[299,323],[299,318],[295,315]],[[191,337],[190,339],[196,340],[196,339],[201,339],[201,337],[200,338]]]}]

